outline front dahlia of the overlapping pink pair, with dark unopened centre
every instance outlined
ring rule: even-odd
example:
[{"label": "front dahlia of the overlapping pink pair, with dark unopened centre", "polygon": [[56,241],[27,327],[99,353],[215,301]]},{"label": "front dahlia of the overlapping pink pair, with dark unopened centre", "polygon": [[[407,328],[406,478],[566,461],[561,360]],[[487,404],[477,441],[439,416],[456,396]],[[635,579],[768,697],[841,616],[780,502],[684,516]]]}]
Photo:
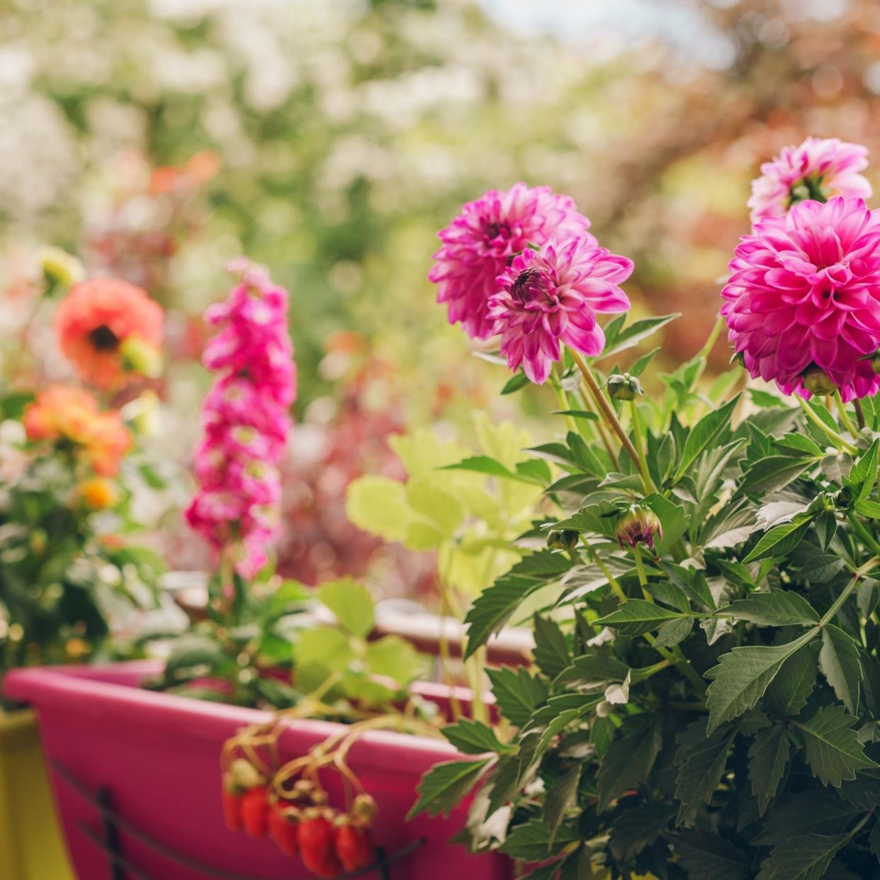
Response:
[{"label": "front dahlia of the overlapping pink pair, with dark unopened centre", "polygon": [[627,311],[618,285],[632,271],[632,260],[596,246],[591,235],[519,254],[499,275],[488,310],[510,369],[522,365],[532,382],[542,383],[561,357],[561,343],[598,355],[605,334],[596,313]]}]

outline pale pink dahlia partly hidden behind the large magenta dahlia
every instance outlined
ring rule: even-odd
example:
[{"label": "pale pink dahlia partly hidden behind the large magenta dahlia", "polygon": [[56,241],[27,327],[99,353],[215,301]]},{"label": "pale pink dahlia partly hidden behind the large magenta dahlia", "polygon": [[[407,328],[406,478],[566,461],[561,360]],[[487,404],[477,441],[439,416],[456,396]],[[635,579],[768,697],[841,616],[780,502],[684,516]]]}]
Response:
[{"label": "pale pink dahlia partly hidden behind the large magenta dahlia", "polygon": [[834,195],[867,199],[871,185],[860,171],[868,167],[868,149],[836,137],[808,137],[799,147],[786,147],[772,162],[761,165],[752,180],[752,223],[764,217],[785,216],[796,202]]}]

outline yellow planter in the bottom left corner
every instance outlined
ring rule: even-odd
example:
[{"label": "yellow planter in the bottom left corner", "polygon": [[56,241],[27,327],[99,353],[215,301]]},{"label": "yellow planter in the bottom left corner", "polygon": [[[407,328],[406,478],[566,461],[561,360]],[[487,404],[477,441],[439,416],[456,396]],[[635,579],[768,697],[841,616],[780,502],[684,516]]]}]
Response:
[{"label": "yellow planter in the bottom left corner", "polygon": [[0,710],[0,877],[74,880],[33,713]]}]

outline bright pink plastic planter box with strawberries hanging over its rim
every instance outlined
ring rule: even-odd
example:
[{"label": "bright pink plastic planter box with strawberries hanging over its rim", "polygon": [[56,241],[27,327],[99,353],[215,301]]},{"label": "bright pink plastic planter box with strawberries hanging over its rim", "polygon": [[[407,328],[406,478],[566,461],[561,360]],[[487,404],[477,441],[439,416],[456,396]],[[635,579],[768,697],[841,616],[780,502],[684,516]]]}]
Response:
[{"label": "bright pink plastic planter box with strawberries hanging over its rim", "polygon": [[[105,840],[99,811],[52,769],[55,803],[77,876],[81,880],[145,877],[150,880],[206,880],[239,875],[265,880],[312,876],[297,859],[266,839],[253,840],[224,825],[219,757],[236,730],[268,718],[255,709],[221,706],[138,688],[161,667],[155,663],[113,664],[10,672],[4,693],[36,709],[43,746],[51,765],[66,768],[94,793],[106,788],[122,819],[188,859],[200,871],[170,861],[120,826],[121,855],[138,871],[112,874],[95,840]],[[444,703],[444,688],[422,686],[424,695]],[[341,730],[332,722],[290,722],[280,740],[282,759],[304,754]],[[465,821],[464,810],[448,819],[424,815],[404,821],[422,773],[457,752],[448,744],[385,731],[363,735],[349,764],[378,801],[375,838],[387,854],[424,839],[424,845],[394,862],[392,880],[510,880],[511,862],[497,854],[472,855],[449,840]],[[335,788],[334,788],[335,785]],[[331,803],[343,803],[334,776],[326,777]],[[378,871],[364,875],[379,877]]]}]

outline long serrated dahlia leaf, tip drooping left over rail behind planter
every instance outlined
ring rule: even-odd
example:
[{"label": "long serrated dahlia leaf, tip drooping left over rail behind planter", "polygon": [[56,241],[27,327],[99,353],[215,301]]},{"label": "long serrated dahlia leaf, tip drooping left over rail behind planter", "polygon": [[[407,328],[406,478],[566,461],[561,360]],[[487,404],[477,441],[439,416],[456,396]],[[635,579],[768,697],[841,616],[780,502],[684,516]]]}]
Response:
[{"label": "long serrated dahlia leaf, tip drooping left over rail behind planter", "polygon": [[466,658],[510,620],[524,598],[560,578],[572,564],[564,554],[541,550],[517,562],[488,590],[483,590],[465,617],[468,625]]}]

